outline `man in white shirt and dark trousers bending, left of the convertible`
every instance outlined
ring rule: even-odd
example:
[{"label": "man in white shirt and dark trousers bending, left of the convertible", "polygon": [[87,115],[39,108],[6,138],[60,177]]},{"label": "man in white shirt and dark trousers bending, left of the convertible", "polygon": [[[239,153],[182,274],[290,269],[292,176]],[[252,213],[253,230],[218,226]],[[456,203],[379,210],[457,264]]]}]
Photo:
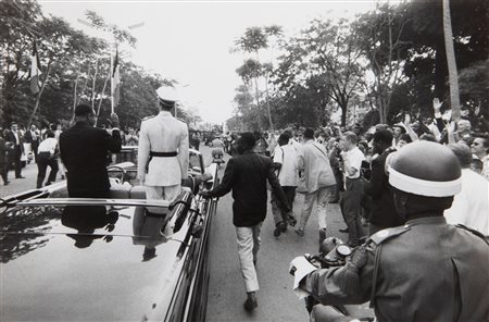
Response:
[{"label": "man in white shirt and dark trousers bending, left of the convertible", "polygon": [[58,173],[58,140],[54,138],[52,131],[47,132],[47,137],[37,148],[37,185],[36,188],[42,187],[46,177],[46,170],[51,168],[46,185],[49,186],[57,179]]}]

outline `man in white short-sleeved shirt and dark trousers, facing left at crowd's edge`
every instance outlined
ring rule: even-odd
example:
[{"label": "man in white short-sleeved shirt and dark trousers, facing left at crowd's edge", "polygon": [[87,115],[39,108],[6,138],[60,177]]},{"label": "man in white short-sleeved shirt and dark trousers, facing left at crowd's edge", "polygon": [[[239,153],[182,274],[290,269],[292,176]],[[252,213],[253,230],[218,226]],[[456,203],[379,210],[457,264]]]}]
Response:
[{"label": "man in white short-sleeved shirt and dark trousers, facing left at crowd's edge", "polygon": [[365,156],[356,146],[356,141],[358,137],[352,132],[344,133],[340,140],[344,175],[344,193],[340,206],[348,226],[348,244],[352,247],[358,246],[359,239],[363,236],[360,212],[361,201],[365,194],[360,173]]}]

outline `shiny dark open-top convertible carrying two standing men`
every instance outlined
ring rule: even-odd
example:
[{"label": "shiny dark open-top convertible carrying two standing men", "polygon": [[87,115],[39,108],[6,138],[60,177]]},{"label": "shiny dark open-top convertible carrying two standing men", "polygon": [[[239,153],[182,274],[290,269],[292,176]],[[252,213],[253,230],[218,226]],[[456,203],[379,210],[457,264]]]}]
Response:
[{"label": "shiny dark open-top convertible carrying two standing men", "polygon": [[[108,199],[65,183],[0,199],[2,321],[204,321],[217,182],[190,151],[188,188],[146,200],[130,162],[109,168]],[[202,181],[210,173],[213,179]]]}]

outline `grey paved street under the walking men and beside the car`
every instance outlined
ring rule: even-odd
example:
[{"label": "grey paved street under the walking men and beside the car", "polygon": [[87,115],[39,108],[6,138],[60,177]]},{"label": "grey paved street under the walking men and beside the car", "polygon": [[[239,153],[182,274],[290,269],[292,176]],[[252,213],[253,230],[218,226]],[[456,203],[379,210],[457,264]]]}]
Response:
[{"label": "grey paved street under the walking men and beside the car", "polygon": [[[206,165],[211,162],[211,149],[201,146]],[[226,156],[226,158],[228,158]],[[225,165],[221,169],[221,177]],[[10,172],[11,184],[0,186],[1,196],[16,194],[36,187],[37,166],[27,164],[23,169],[25,178],[15,179]],[[60,181],[60,174],[58,174]],[[268,198],[269,199],[269,198]],[[293,205],[294,214],[299,218],[303,205],[302,195],[298,195]],[[317,252],[317,218],[311,215],[305,228],[305,236],[299,237],[289,230],[280,237],[273,236],[274,223],[272,210],[262,231],[262,249],[258,260],[260,290],[259,307],[250,314],[242,305],[246,299],[244,283],[239,270],[235,227],[233,225],[231,195],[220,199],[217,212],[212,223],[210,238],[211,280],[209,289],[208,321],[309,321],[302,300],[291,290],[292,277],[288,273],[290,261],[299,255]],[[343,227],[339,206],[328,205],[328,236],[347,239],[346,234],[338,232]],[[314,212],[313,212],[314,213]],[[364,306],[366,308],[366,306]],[[359,311],[362,312],[363,308]],[[365,315],[365,313],[360,313]]]}]

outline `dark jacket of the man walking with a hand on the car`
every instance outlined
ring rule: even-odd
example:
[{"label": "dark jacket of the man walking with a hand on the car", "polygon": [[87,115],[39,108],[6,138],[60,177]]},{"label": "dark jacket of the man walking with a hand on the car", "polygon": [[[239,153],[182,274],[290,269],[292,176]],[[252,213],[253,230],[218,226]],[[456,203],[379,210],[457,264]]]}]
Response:
[{"label": "dark jacket of the man walking with a hand on the car", "polygon": [[280,207],[290,207],[272,166],[272,160],[252,151],[234,157],[227,163],[221,185],[210,191],[221,197],[233,189],[233,223],[237,227],[250,227],[265,220],[266,181],[276,194]]}]

